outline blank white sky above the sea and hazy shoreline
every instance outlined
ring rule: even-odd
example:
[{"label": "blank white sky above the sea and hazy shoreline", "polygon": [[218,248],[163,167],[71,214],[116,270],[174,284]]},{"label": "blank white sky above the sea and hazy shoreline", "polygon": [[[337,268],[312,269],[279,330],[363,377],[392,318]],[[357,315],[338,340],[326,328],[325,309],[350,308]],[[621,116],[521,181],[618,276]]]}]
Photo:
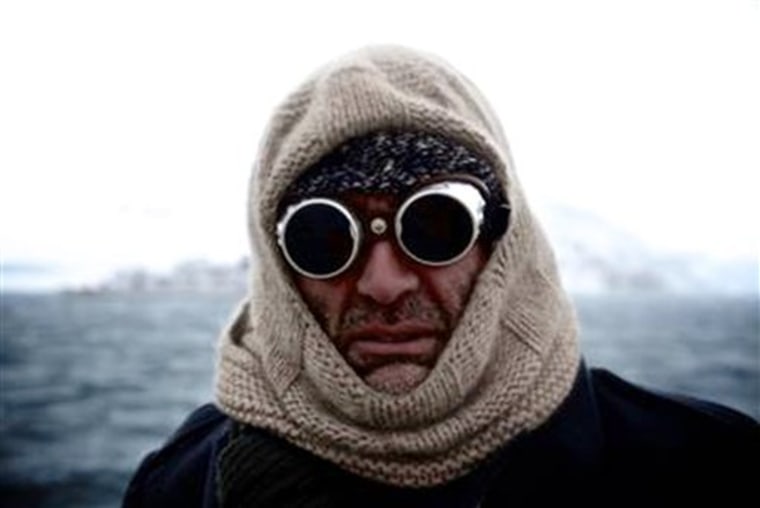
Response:
[{"label": "blank white sky above the sea and hazy shoreline", "polygon": [[237,259],[272,108],[385,42],[483,90],[539,202],[659,248],[757,257],[756,0],[18,0],[0,7],[3,261]]}]

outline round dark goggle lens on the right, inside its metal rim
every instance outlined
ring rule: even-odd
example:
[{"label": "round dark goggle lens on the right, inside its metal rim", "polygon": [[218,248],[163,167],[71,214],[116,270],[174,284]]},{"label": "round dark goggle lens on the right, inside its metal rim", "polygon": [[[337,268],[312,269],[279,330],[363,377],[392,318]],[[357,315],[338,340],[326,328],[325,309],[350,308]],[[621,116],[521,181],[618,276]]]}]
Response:
[{"label": "round dark goggle lens on the right, inside its metal rim", "polygon": [[401,217],[401,241],[414,256],[445,263],[469,246],[473,223],[465,206],[442,194],[414,201]]}]

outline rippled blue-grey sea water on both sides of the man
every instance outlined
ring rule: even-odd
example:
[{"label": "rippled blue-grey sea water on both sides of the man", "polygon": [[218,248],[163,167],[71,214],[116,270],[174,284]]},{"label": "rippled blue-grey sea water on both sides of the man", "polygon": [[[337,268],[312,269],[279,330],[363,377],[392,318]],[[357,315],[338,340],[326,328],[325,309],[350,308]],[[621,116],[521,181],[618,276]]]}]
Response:
[{"label": "rippled blue-grey sea water on both sides of the man", "polygon": [[[0,504],[118,506],[140,458],[212,397],[232,295],[3,295]],[[757,297],[576,300],[592,365],[760,417]]]}]

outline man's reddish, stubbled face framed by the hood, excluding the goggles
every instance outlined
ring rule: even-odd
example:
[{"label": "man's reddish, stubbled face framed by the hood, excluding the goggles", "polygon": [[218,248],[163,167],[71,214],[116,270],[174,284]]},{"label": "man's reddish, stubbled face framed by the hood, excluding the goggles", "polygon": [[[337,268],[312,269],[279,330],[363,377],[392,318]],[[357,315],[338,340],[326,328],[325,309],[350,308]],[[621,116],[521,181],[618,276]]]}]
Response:
[{"label": "man's reddish, stubbled face framed by the hood, excluding the goggles", "polygon": [[[340,200],[365,217],[392,214],[398,205],[387,195],[347,193]],[[365,242],[345,272],[293,278],[356,373],[378,391],[405,393],[435,366],[488,253],[476,243],[457,262],[434,267],[408,258],[393,235]]]}]

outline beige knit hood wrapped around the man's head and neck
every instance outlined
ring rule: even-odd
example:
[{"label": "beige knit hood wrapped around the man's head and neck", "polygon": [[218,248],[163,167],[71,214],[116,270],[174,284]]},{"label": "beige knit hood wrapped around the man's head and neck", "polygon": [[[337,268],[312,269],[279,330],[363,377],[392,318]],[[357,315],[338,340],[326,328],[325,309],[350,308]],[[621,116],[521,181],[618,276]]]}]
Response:
[{"label": "beige knit hood wrapped around the man's head and neck", "polygon": [[[493,167],[512,212],[438,363],[413,391],[367,386],[292,284],[275,240],[288,185],[349,138],[432,132]],[[250,295],[221,337],[217,398],[232,418],[375,480],[430,486],[461,476],[544,422],[579,365],[574,310],[525,203],[501,127],[445,62],[399,47],[351,53],[275,111],[250,188]]]}]

